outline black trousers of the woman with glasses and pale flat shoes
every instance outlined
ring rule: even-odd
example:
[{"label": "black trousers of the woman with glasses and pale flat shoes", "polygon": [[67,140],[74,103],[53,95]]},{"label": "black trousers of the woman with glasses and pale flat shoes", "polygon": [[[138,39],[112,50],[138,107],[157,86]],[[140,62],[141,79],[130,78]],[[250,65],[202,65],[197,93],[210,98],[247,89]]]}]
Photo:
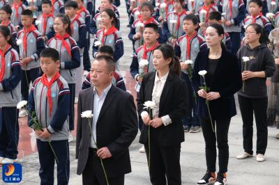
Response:
[{"label": "black trousers of the woman with glasses and pale flat shoes", "polygon": [[249,98],[239,95],[239,107],[243,120],[243,148],[248,154],[253,154],[253,113],[257,126],[257,154],[264,154],[267,147],[267,97]]}]

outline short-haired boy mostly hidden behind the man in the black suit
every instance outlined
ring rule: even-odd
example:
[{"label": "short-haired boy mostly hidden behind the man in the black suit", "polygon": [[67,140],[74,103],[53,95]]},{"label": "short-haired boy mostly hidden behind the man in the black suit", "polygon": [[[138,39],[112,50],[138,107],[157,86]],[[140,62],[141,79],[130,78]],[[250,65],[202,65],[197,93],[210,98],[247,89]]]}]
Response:
[{"label": "short-haired boy mostly hidden behind the man in the black suit", "polygon": [[[99,49],[98,49],[98,55],[107,55],[107,56],[110,56],[113,58],[113,54],[114,54],[114,51],[113,51],[112,47],[110,47],[110,46],[104,45],[102,47],[99,47]],[[112,77],[112,85],[126,91],[126,86],[125,86],[123,77],[122,77],[121,73],[116,69],[114,70],[114,77]],[[89,74],[87,74],[86,79],[82,83],[82,90],[84,90],[86,88],[90,88],[92,86],[93,85],[91,82],[91,76],[90,76],[90,72],[89,72]]]}]

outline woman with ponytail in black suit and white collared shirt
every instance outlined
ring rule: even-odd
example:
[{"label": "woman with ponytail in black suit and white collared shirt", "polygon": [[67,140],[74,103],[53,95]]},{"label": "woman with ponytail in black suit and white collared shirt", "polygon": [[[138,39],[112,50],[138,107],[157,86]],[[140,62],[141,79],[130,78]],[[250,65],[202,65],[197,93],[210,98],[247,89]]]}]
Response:
[{"label": "woman with ponytail in black suit and white collared shirt", "polygon": [[[188,90],[179,77],[180,61],[170,45],[158,45],[153,50],[153,65],[157,72],[144,74],[137,97],[137,111],[144,122],[140,143],[144,144],[153,185],[181,184],[180,149],[184,141],[182,118],[187,114]],[[170,69],[172,67],[172,69]],[[156,102],[149,118],[144,102]],[[167,177],[167,179],[166,179]]]}]

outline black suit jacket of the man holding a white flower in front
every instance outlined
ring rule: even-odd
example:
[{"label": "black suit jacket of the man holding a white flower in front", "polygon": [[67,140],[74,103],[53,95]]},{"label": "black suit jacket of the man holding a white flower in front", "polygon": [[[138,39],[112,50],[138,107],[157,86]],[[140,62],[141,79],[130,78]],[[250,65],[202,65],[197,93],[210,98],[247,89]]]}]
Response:
[{"label": "black suit jacket of the man holding a white flower in front", "polygon": [[[81,175],[89,155],[91,131],[87,118],[81,118],[83,111],[92,110],[93,87],[80,92],[77,104],[77,145],[75,159],[77,175]],[[91,119],[92,122],[92,119]],[[117,177],[131,172],[128,147],[137,136],[137,111],[130,93],[112,86],[105,97],[96,124],[98,148],[107,147],[112,157],[104,159],[107,177]]]}]

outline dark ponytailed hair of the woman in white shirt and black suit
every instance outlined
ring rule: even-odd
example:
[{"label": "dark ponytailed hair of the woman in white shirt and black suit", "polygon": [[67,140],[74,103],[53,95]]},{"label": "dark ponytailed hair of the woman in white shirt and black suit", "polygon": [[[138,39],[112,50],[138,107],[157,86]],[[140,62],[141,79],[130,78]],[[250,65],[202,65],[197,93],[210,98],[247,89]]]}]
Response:
[{"label": "dark ponytailed hair of the woman in white shirt and black suit", "polygon": [[180,77],[181,74],[181,66],[180,66],[180,60],[177,56],[175,56],[174,49],[171,45],[158,45],[153,50],[153,53],[155,50],[159,49],[165,60],[172,58],[172,61],[169,63],[169,68],[172,69],[172,71],[177,74]]}]

